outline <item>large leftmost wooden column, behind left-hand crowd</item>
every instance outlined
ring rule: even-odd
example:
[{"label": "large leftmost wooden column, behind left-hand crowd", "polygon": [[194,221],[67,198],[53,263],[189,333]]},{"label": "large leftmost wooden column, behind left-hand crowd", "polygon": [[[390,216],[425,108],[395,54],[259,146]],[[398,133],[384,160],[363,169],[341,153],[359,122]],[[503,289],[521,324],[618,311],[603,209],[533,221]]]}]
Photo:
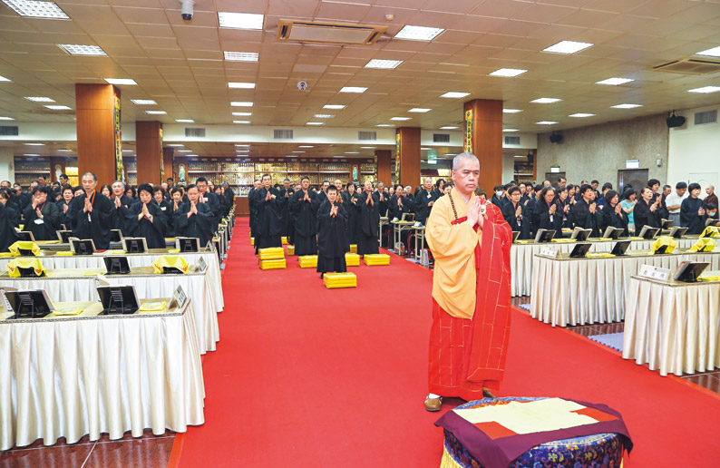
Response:
[{"label": "large leftmost wooden column, behind left-hand crowd", "polygon": [[119,178],[122,165],[120,90],[112,84],[75,84],[78,175],[94,172],[98,187]]}]

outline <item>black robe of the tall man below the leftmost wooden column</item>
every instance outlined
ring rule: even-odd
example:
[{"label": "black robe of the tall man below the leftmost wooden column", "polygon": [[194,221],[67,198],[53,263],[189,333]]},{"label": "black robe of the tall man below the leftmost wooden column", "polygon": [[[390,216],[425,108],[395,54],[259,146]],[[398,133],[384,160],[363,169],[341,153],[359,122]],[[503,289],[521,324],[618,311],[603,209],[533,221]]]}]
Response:
[{"label": "black robe of the tall man below the leftmost wooden column", "polygon": [[91,213],[83,212],[87,193],[83,193],[73,200],[71,205],[74,220],[73,237],[92,239],[95,249],[107,250],[110,249],[112,202],[102,193],[94,192],[93,195],[91,195]]}]

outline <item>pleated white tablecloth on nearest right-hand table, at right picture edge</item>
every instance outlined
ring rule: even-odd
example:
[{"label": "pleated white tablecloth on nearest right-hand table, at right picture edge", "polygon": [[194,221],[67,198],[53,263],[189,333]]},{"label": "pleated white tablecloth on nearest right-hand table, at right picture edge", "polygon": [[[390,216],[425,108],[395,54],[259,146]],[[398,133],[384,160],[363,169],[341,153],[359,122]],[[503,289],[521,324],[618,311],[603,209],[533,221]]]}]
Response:
[{"label": "pleated white tablecloth on nearest right-hand table, at right picture edge", "polygon": [[633,277],[623,357],[660,369],[694,374],[720,367],[720,283],[664,283]]}]

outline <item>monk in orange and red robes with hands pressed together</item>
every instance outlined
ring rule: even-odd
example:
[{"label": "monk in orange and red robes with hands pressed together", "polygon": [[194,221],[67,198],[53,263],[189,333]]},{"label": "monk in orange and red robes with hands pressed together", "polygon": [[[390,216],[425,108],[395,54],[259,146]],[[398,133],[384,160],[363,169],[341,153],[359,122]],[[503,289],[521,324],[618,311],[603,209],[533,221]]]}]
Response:
[{"label": "monk in orange and red robes with hands pressed together", "polygon": [[475,196],[479,174],[474,155],[455,156],[455,187],[435,201],[425,230],[435,259],[428,411],[443,396],[492,396],[505,370],[512,231],[499,207]]}]

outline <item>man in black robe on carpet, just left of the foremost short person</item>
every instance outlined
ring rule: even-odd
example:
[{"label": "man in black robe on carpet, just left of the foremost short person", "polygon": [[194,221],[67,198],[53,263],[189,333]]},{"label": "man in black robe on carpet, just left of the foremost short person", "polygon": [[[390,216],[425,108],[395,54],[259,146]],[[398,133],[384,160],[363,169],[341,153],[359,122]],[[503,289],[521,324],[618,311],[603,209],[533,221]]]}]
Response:
[{"label": "man in black robe on carpet, just left of the foremost short person", "polygon": [[317,209],[319,195],[310,190],[310,180],[300,180],[300,190],[289,198],[290,211],[295,219],[295,255],[317,254]]}]

